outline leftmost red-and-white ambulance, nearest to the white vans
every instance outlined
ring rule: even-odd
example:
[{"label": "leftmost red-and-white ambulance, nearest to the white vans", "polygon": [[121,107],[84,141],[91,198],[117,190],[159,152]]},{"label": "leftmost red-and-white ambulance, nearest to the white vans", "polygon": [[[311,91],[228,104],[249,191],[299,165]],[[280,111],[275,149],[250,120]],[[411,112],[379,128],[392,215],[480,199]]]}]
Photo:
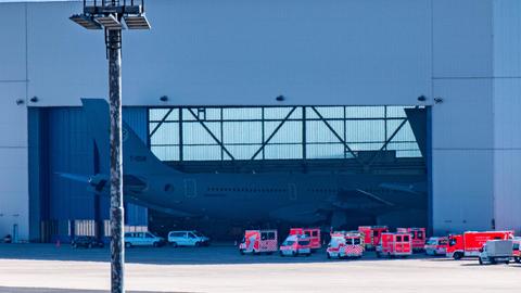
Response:
[{"label": "leftmost red-and-white ambulance, nearest to the white vans", "polygon": [[277,249],[277,230],[246,230],[241,244],[239,244],[241,254],[272,254]]}]

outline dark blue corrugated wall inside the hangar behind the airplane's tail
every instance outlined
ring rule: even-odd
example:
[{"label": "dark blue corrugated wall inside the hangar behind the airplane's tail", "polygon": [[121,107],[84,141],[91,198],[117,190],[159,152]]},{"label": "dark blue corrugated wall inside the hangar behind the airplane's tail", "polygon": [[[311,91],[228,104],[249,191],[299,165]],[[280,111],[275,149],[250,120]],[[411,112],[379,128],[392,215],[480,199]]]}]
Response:
[{"label": "dark blue corrugated wall inside the hangar behind the airplane's tail", "polygon": [[[88,120],[80,107],[52,107],[42,109],[45,115],[38,115],[35,120],[46,124],[48,127],[36,128],[40,139],[48,145],[48,152],[40,154],[39,169],[46,170],[49,184],[45,188],[35,188],[40,191],[40,200],[47,201],[40,206],[48,209],[40,221],[50,222],[48,226],[49,235],[47,239],[55,241],[61,239],[67,241],[74,220],[88,220],[96,218],[96,205],[99,204],[100,219],[109,219],[109,196],[101,196],[99,203],[96,195],[88,191],[82,182],[73,181],[60,176],[59,173],[78,175],[94,174],[94,145],[92,136],[89,133]],[[29,115],[36,116],[36,110]],[[41,113],[38,113],[41,114]],[[124,110],[124,120],[145,140],[147,126],[145,107],[128,107]],[[30,117],[29,117],[30,119]],[[29,131],[37,131],[29,130]],[[43,157],[47,156],[47,157]],[[30,166],[35,168],[37,166]],[[38,181],[35,181],[37,183]],[[31,182],[33,184],[33,182]],[[37,221],[31,222],[36,225]],[[147,209],[140,206],[128,204],[126,206],[126,224],[131,226],[145,226],[148,222]],[[36,227],[35,227],[36,228]],[[50,238],[49,238],[50,237]]]}]

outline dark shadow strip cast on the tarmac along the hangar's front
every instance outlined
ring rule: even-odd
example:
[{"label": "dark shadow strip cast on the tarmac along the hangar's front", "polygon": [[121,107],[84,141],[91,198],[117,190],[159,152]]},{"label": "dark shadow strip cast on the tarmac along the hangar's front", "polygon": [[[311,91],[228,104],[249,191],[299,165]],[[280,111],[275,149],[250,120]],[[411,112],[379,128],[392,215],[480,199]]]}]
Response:
[{"label": "dark shadow strip cast on the tarmac along the hangar's front", "polygon": [[[0,258],[34,259],[34,260],[77,260],[109,262],[110,250],[105,249],[73,249],[69,245],[53,244],[0,244]],[[439,257],[428,257],[415,254],[408,258],[425,260],[442,260]],[[151,265],[233,265],[233,264],[298,264],[298,263],[331,263],[331,262],[401,262],[403,258],[377,258],[374,252],[366,252],[359,259],[328,259],[325,250],[312,256],[281,257],[272,255],[240,255],[236,246],[209,247],[132,247],[126,250],[126,262],[130,264]],[[450,260],[450,259],[448,259]],[[454,262],[454,260],[453,260]]]}]

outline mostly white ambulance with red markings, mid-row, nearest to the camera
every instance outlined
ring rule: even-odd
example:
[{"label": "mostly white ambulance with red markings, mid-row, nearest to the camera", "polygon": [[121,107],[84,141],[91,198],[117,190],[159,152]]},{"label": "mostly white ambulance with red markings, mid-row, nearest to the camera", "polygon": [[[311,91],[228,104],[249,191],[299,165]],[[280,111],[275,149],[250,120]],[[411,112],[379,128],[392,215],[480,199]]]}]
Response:
[{"label": "mostly white ambulance with red markings, mid-row, nearest to the camera", "polygon": [[359,232],[332,232],[326,253],[328,258],[359,258],[364,255],[364,235]]}]

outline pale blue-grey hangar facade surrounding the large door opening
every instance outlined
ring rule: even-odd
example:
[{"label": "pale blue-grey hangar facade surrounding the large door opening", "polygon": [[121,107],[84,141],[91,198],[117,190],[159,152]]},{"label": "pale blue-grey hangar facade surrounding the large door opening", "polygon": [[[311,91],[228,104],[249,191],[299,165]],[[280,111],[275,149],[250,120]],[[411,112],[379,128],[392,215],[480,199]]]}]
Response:
[{"label": "pale blue-grey hangar facade surrounding the large door opening", "polygon": [[[0,170],[8,179],[0,183],[0,209],[7,211],[0,214],[18,215],[25,226],[27,169],[20,166],[27,165],[27,119],[15,97],[38,97],[29,106],[79,105],[81,97],[104,97],[106,62],[100,31],[67,20],[80,11],[79,2],[1,5],[0,31],[12,41],[0,48],[5,64],[0,93],[8,97],[0,110],[8,133],[0,156],[12,163]],[[424,94],[432,105],[434,230],[519,230],[518,5],[516,0],[150,1],[153,29],[124,38],[125,104],[415,105]],[[287,100],[277,102],[279,94]],[[434,104],[435,97],[443,103]],[[12,224],[0,217],[0,234]]]}]

